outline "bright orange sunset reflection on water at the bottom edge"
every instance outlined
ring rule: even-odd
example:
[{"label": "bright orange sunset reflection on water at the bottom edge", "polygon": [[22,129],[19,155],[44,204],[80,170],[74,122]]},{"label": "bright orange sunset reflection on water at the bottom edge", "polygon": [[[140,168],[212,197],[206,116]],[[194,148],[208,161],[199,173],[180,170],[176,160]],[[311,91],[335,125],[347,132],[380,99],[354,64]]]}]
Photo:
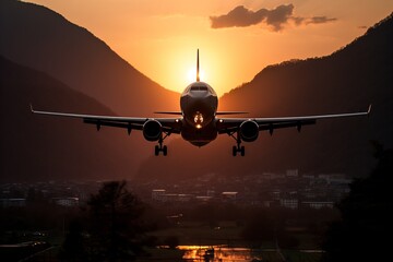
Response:
[{"label": "bright orange sunset reflection on water at the bottom edge", "polygon": [[261,253],[247,248],[228,248],[226,246],[179,246],[178,248],[184,250],[182,258],[188,261],[262,261]]}]

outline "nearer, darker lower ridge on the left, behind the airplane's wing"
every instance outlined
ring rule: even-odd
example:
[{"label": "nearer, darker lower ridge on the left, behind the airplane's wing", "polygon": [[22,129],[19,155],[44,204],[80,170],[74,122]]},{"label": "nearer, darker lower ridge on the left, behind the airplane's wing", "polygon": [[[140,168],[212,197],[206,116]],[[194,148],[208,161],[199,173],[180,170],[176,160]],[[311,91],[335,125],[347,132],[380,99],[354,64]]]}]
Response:
[{"label": "nearer, darker lower ridge on the left, behind the airplane's wing", "polygon": [[[33,115],[28,104],[112,115],[96,99],[46,73],[0,56],[0,180],[40,181],[130,178],[141,162],[142,138],[81,120]],[[145,150],[141,153],[147,154]]]}]

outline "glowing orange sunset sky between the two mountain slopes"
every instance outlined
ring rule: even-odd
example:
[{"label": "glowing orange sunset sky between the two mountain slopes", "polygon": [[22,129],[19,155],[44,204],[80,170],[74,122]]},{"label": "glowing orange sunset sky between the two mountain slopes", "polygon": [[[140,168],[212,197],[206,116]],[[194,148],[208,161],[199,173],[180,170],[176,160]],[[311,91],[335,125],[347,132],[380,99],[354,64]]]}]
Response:
[{"label": "glowing orange sunset sky between the two mountain slopes", "polygon": [[392,0],[33,0],[87,28],[139,71],[181,92],[218,95],[264,67],[330,55],[393,11]]}]

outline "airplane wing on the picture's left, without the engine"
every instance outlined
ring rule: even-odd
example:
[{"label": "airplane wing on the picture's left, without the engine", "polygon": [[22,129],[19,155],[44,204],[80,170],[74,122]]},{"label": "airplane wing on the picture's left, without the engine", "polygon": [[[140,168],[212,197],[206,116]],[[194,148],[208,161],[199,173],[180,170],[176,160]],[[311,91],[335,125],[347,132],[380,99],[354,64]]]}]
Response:
[{"label": "airplane wing on the picture's left, without the engine", "polygon": [[34,110],[31,105],[31,111],[37,115],[44,116],[57,116],[67,118],[82,119],[84,123],[95,124],[97,130],[103,126],[123,128],[128,133],[131,130],[143,130],[143,126],[148,120],[158,121],[162,124],[163,132],[167,134],[180,133],[181,131],[181,118],[136,118],[136,117],[115,117],[115,116],[95,116],[95,115],[82,115],[82,114],[69,114],[69,112],[56,112],[56,111],[39,111]]}]

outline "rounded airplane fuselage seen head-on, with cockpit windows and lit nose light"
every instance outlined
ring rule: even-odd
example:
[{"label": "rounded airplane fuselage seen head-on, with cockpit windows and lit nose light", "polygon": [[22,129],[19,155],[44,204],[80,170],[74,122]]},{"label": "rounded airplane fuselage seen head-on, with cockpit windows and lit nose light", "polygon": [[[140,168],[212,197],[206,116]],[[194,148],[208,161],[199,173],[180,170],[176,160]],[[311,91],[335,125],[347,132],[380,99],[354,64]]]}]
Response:
[{"label": "rounded airplane fuselage seen head-on, with cockpit windows and lit nose light", "polygon": [[218,97],[212,86],[199,81],[187,86],[180,97],[183,117],[181,136],[196,146],[215,140],[217,107]]}]

